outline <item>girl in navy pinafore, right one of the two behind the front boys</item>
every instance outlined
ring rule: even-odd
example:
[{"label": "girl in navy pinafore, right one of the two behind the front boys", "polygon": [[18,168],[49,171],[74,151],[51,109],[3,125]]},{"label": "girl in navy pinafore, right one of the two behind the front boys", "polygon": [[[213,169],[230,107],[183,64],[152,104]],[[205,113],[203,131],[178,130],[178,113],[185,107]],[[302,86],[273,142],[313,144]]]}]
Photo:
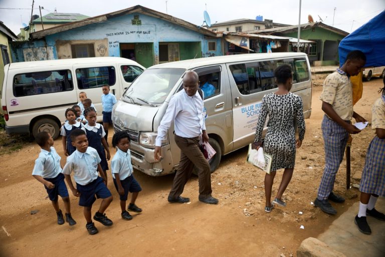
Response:
[{"label": "girl in navy pinafore, right one of the two behind the front boys", "polygon": [[[101,159],[100,166],[106,174],[106,170],[108,170],[107,159],[110,159],[110,151],[107,142],[104,139],[106,133],[103,126],[96,123],[96,112],[94,108],[91,107],[84,110],[84,116],[88,123],[84,125],[82,129],[86,132],[88,146],[94,148],[98,152]],[[107,151],[107,156],[105,150]]]}]

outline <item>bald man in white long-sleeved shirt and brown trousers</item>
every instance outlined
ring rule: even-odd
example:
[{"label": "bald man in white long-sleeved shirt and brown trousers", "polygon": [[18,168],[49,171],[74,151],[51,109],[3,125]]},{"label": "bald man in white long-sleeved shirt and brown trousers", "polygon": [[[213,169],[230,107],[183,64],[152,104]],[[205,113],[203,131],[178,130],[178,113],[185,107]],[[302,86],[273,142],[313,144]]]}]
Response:
[{"label": "bald man in white long-sleeved shirt and brown trousers", "polygon": [[205,117],[203,116],[203,97],[198,92],[199,79],[196,72],[187,72],[183,78],[183,89],[170,100],[166,113],[158,127],[155,140],[154,158],[161,159],[161,141],[166,139],[167,130],[172,121],[175,128],[175,143],[180,148],[180,162],[175,173],[169,202],[189,202],[189,198],[182,197],[184,185],[193,173],[194,166],[198,168],[199,200],[205,203],[217,204],[218,199],[211,193],[210,164],[199,148],[200,137],[209,140],[206,132]]}]

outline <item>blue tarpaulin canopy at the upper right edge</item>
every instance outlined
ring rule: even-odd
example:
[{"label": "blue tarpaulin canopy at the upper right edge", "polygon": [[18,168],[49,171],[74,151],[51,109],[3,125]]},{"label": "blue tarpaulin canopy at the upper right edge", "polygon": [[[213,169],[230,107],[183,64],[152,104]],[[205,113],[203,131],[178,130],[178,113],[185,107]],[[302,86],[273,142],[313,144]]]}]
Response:
[{"label": "blue tarpaulin canopy at the upper right edge", "polygon": [[385,10],[339,43],[340,66],[353,50],[360,50],[366,55],[365,67],[385,66]]}]

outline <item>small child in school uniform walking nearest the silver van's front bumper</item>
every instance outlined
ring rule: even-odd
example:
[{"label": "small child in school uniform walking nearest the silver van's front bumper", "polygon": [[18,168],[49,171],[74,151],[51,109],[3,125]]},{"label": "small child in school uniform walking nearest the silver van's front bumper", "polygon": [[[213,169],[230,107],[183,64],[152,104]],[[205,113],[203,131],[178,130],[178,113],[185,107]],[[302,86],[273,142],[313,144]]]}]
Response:
[{"label": "small child in school uniform walking nearest the silver van's front bumper", "polygon": [[142,212],[142,209],[136,206],[135,200],[138,193],[142,190],[138,181],[132,174],[131,154],[130,154],[130,136],[125,131],[119,131],[112,137],[112,146],[117,147],[116,154],[111,161],[112,177],[114,185],[120,195],[120,208],[122,218],[132,219],[132,216],[126,211],[126,200],[128,192],[132,192],[128,210],[133,212]]}]

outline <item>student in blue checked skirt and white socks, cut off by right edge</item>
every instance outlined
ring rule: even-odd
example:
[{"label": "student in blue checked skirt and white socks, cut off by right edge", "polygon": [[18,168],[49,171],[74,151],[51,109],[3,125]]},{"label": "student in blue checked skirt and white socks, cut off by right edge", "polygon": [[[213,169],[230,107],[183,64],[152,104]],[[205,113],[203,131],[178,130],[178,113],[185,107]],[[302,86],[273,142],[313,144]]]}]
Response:
[{"label": "student in blue checked skirt and white socks, cut off by right edge", "polygon": [[374,208],[378,196],[385,196],[385,78],[384,87],[379,91],[381,97],[372,107],[371,128],[375,129],[375,136],[366,151],[359,191],[358,214],[354,218],[358,230],[364,234],[371,234],[366,221],[366,215],[385,221],[385,214]]}]

